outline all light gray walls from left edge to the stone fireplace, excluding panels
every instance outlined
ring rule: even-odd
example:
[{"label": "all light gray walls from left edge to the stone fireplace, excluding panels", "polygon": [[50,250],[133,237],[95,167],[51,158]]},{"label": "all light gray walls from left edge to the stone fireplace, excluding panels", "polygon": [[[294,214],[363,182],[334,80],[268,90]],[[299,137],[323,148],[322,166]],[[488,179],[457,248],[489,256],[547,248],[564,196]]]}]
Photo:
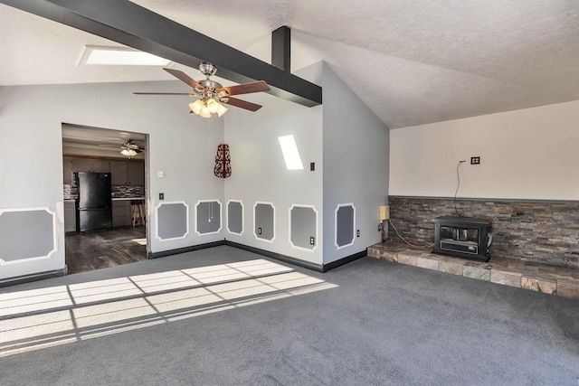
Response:
[{"label": "all light gray walls from left edge to the stone fireplace, excluding panels", "polygon": [[[324,89],[323,106],[306,108],[266,93],[251,94],[243,99],[264,108],[254,113],[230,108],[213,123],[189,114],[185,98],[132,94],[186,92],[178,81],[0,87],[0,208],[46,208],[58,217],[57,251],[47,259],[4,266],[0,278],[64,267],[63,122],[149,135],[148,231],[157,226],[158,193],[165,193],[166,202],[189,205],[188,234],[173,240],[149,234],[148,249],[153,252],[226,238],[322,264],[379,241],[378,206],[387,202],[388,191],[388,129],[326,64],[303,72],[322,74],[317,81]],[[286,169],[278,137],[289,134],[295,137],[303,170]],[[226,180],[213,174],[221,143],[229,144],[232,156],[233,175]],[[312,162],[314,172],[308,167]],[[159,171],[163,178],[157,176]],[[207,200],[241,201],[243,234],[230,233],[224,226],[219,233],[195,232],[195,204]],[[253,234],[256,202],[275,207],[273,243]],[[353,246],[337,250],[335,211],[347,202],[356,206],[361,237]],[[289,208],[294,204],[318,210],[318,248],[292,247]]]}]

